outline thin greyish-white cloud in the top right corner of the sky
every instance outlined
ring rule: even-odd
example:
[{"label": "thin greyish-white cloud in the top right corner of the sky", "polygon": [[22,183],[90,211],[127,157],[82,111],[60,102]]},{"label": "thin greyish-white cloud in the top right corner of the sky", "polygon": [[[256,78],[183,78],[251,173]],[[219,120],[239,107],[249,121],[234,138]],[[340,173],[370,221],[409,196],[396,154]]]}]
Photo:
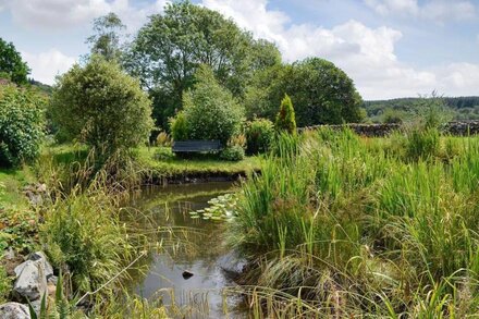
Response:
[{"label": "thin greyish-white cloud in the top right corner of the sky", "polygon": [[364,0],[381,15],[406,15],[428,19],[440,23],[476,17],[476,7],[470,1],[429,0]]}]

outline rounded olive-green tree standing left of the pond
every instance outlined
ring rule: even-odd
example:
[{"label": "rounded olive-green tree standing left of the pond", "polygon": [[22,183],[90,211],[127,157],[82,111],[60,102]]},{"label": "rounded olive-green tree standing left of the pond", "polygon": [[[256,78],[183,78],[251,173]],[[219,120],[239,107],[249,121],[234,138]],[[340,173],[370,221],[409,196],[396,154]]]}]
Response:
[{"label": "rounded olive-green tree standing left of the pond", "polygon": [[60,77],[51,114],[64,135],[106,152],[146,142],[152,128],[151,102],[138,81],[100,56]]}]

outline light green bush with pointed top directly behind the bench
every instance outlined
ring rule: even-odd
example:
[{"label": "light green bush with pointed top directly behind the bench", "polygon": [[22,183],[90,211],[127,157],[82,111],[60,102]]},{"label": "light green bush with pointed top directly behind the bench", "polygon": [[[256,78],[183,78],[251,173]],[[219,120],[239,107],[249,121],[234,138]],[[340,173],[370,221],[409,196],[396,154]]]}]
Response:
[{"label": "light green bush with pointed top directly behind the bench", "polygon": [[183,96],[188,138],[219,139],[225,145],[240,132],[243,110],[208,66],[198,69],[196,81],[194,89]]}]

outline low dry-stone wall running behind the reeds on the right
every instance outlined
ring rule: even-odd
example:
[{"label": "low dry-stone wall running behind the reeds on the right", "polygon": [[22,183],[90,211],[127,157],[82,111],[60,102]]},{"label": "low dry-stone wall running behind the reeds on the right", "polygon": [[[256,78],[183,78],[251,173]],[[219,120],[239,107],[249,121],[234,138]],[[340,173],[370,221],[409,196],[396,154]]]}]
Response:
[{"label": "low dry-stone wall running behind the reeds on the right", "polygon": [[[332,130],[342,130],[344,127],[349,127],[356,134],[363,136],[385,136],[393,131],[402,130],[401,124],[345,124],[345,125],[315,125],[308,127],[302,127],[299,131],[310,131],[318,130],[320,127],[330,127]],[[479,134],[479,121],[454,121],[449,122],[444,125],[444,133],[452,135],[464,136],[464,135],[476,135]]]}]

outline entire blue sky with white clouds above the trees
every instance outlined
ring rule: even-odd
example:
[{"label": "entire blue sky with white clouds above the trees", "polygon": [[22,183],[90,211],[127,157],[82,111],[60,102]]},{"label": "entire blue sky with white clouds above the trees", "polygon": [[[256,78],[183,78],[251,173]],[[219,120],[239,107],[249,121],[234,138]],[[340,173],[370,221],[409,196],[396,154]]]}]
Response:
[{"label": "entire blue sky with white clouds above the trees", "polygon": [[[132,36],[169,0],[0,0],[0,37],[46,84],[88,52],[95,17]],[[364,99],[479,95],[479,0],[194,0],[273,41],[283,60],[330,60]]]}]

